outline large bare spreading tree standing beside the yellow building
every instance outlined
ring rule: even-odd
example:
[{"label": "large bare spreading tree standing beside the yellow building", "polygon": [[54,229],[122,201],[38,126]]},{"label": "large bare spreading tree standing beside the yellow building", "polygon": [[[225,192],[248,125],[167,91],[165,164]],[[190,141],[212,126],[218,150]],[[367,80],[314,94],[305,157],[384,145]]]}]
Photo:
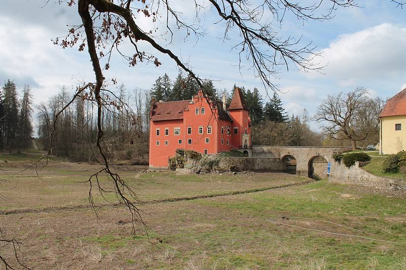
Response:
[{"label": "large bare spreading tree standing beside the yellow building", "polygon": [[336,140],[351,141],[357,149],[357,141],[377,132],[381,99],[368,97],[368,90],[357,88],[347,94],[329,95],[317,109],[315,120],[322,123],[324,134]]}]

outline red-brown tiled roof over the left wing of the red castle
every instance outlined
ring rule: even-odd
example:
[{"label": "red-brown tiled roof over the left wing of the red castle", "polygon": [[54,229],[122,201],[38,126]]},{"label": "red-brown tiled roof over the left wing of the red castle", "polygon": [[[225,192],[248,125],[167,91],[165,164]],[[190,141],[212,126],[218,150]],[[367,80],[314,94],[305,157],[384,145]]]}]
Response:
[{"label": "red-brown tiled roof over the left wing of the red castle", "polygon": [[183,119],[183,111],[187,109],[190,100],[167,101],[153,103],[151,121]]}]

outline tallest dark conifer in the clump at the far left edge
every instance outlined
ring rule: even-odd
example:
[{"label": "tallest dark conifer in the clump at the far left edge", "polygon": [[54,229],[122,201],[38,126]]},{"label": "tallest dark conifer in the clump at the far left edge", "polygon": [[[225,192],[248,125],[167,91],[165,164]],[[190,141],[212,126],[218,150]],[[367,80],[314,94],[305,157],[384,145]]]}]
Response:
[{"label": "tallest dark conifer in the clump at the far left edge", "polygon": [[4,91],[4,146],[10,152],[16,149],[18,135],[18,100],[14,82],[7,80]]}]

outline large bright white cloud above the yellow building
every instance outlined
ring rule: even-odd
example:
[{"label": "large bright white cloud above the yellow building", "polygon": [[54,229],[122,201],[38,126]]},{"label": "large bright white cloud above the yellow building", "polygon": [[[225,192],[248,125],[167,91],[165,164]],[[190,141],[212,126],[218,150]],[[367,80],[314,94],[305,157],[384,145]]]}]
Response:
[{"label": "large bright white cloud above the yellow building", "polygon": [[[365,30],[340,35],[322,50],[318,58],[327,65],[323,73],[342,85],[360,80],[404,75],[406,71],[406,27],[383,23]],[[321,74],[312,72],[312,78]]]}]

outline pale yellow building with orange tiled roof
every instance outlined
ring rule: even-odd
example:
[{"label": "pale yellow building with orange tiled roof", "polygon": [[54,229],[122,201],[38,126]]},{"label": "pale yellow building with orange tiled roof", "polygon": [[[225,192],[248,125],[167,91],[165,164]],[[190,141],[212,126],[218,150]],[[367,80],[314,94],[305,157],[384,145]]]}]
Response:
[{"label": "pale yellow building with orange tiled roof", "polygon": [[406,89],[388,100],[379,118],[379,153],[394,154],[406,150]]}]

